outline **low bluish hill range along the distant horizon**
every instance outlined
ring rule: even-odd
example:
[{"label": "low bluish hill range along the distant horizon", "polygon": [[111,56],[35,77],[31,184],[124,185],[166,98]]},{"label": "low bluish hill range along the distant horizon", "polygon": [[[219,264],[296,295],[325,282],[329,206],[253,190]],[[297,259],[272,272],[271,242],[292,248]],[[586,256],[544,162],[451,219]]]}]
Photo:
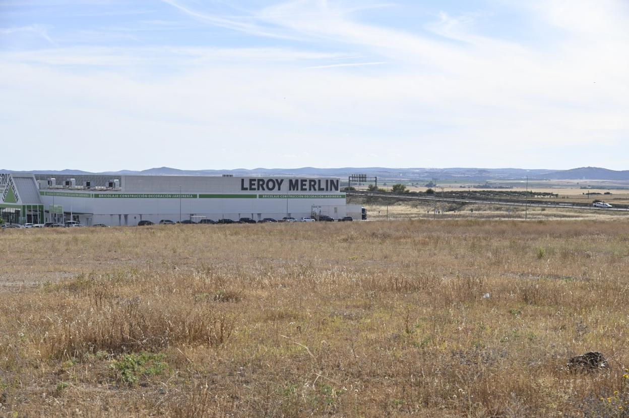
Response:
[{"label": "low bluish hill range along the distant horizon", "polygon": [[[9,170],[0,170],[9,172]],[[29,173],[58,175],[222,175],[274,176],[301,175],[320,177],[347,177],[351,174],[366,174],[381,179],[400,180],[521,180],[528,177],[537,180],[629,180],[629,170],[615,171],[607,168],[581,167],[572,170],[526,170],[525,168],[386,168],[386,167],[342,167],[342,168],[235,168],[233,170],[180,170],[179,168],[157,167],[148,170],[120,170],[116,172],[91,173],[82,170],[33,170]]]}]

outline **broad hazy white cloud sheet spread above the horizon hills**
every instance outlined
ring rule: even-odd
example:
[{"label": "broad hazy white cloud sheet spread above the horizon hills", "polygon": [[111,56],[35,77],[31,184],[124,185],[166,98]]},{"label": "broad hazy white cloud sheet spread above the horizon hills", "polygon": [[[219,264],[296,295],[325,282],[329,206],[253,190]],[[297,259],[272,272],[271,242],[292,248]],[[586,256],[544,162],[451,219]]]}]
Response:
[{"label": "broad hazy white cloud sheet spread above the horizon hills", "polygon": [[[528,19],[561,31],[543,45],[479,35],[474,13],[443,13],[422,35],[361,23],[340,2],[289,1],[245,19],[167,3],[208,25],[308,43],[0,53],[0,113],[19,139],[9,151],[50,144],[45,162],[67,158],[54,144],[85,138],[89,153],[103,143],[130,151],[103,153],[102,167],[81,167],[90,170],[138,160],[277,166],[291,156],[289,165],[328,167],[570,168],[606,156],[600,165],[625,164],[629,14],[618,1],[523,6]],[[588,13],[592,21],[580,24]],[[581,150],[581,159],[562,149]],[[42,165],[36,158],[33,167]]]}]

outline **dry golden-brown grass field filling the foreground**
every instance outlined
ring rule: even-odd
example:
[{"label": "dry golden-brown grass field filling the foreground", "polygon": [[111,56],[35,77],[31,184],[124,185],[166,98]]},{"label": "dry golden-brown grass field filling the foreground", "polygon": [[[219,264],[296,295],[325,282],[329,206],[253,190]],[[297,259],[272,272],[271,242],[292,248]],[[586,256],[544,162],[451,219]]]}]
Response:
[{"label": "dry golden-brown grass field filling the foreground", "polygon": [[[0,242],[0,415],[628,416],[625,220]],[[586,351],[610,370],[565,369]]]}]

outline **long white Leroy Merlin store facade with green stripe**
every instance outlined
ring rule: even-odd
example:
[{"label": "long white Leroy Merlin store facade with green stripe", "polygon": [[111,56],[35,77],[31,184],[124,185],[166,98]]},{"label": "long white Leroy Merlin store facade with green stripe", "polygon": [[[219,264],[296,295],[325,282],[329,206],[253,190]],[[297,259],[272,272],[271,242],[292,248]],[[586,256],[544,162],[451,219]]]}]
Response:
[{"label": "long white Leroy Merlin store facade with green stripe", "polygon": [[[9,174],[7,183],[13,185],[11,176],[18,175]],[[29,187],[32,184],[38,190],[38,201],[28,203],[39,205],[38,210],[43,207],[45,221],[75,220],[86,226],[131,226],[162,219],[199,222],[313,214],[335,219],[361,216],[360,206],[347,206],[340,179],[23,173],[19,178],[22,184],[31,179]],[[33,194],[30,189],[29,195]]]}]

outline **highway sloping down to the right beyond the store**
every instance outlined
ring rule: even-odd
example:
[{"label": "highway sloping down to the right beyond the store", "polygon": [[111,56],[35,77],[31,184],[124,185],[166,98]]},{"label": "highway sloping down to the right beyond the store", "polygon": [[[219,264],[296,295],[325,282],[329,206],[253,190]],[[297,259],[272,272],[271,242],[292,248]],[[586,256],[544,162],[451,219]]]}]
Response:
[{"label": "highway sloping down to the right beyond the store", "polygon": [[629,206],[614,206],[614,207],[594,207],[591,204],[575,203],[575,202],[540,202],[540,201],[525,201],[525,200],[507,200],[507,199],[462,199],[459,197],[439,197],[437,194],[432,197],[426,195],[416,195],[410,193],[389,193],[389,192],[366,192],[361,190],[348,190],[345,192],[347,195],[355,196],[374,196],[374,197],[394,197],[396,199],[411,199],[418,201],[430,201],[430,202],[459,202],[459,203],[473,203],[484,205],[503,205],[503,206],[528,206],[528,207],[553,207],[555,209],[579,209],[587,211],[615,211],[615,212],[629,212]]}]

